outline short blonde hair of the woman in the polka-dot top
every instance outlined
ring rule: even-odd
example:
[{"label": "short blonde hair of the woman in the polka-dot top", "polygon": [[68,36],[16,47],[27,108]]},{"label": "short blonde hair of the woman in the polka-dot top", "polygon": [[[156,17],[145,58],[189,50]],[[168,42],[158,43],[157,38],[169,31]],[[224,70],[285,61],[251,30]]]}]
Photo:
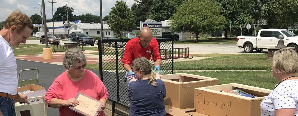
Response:
[{"label": "short blonde hair of the woman in the polka-dot top", "polygon": [[272,63],[276,73],[298,72],[298,54],[294,50],[280,49],[275,51]]}]

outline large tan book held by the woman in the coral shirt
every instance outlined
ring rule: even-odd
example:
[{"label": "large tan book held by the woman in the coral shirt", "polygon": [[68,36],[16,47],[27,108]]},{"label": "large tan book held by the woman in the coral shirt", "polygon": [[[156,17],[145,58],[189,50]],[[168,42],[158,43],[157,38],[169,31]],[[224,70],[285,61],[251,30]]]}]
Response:
[{"label": "large tan book held by the woman in the coral shirt", "polygon": [[78,92],[75,98],[79,101],[80,105],[77,105],[76,107],[70,106],[69,109],[83,116],[97,116],[99,114],[97,110],[101,109],[103,106],[103,102],[91,98],[81,92]]}]

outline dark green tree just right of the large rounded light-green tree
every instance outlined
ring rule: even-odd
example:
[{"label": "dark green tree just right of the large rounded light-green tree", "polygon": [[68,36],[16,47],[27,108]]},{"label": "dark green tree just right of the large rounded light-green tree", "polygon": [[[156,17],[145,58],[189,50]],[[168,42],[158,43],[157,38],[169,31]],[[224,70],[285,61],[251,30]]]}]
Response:
[{"label": "dark green tree just right of the large rounded light-green tree", "polygon": [[[232,21],[231,30],[240,30],[241,26],[246,24],[256,24],[253,19],[253,6],[252,1],[249,0],[216,0],[218,5],[221,6],[221,15],[226,17],[226,22]],[[225,38],[227,38],[227,32],[230,28],[229,23],[224,28]],[[252,31],[251,31],[252,32]]]}]

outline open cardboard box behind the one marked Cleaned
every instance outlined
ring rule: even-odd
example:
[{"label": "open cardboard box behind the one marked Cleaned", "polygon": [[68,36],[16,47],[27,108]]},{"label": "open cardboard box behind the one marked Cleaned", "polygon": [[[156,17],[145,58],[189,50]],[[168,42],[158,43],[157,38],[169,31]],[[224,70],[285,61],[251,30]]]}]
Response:
[{"label": "open cardboard box behind the one marked Cleaned", "polygon": [[199,87],[219,85],[219,79],[186,73],[161,75],[167,89],[164,104],[176,108],[194,108],[194,90]]}]

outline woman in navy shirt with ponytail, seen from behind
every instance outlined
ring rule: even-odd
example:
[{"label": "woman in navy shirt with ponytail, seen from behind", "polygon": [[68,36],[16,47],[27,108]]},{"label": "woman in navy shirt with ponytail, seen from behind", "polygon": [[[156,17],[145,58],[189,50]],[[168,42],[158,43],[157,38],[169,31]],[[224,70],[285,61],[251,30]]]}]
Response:
[{"label": "woman in navy shirt with ponytail, seen from behind", "polygon": [[151,70],[151,63],[145,57],[136,58],[132,68],[137,78],[128,85],[130,116],[165,116],[164,98],[166,88],[159,74]]}]

